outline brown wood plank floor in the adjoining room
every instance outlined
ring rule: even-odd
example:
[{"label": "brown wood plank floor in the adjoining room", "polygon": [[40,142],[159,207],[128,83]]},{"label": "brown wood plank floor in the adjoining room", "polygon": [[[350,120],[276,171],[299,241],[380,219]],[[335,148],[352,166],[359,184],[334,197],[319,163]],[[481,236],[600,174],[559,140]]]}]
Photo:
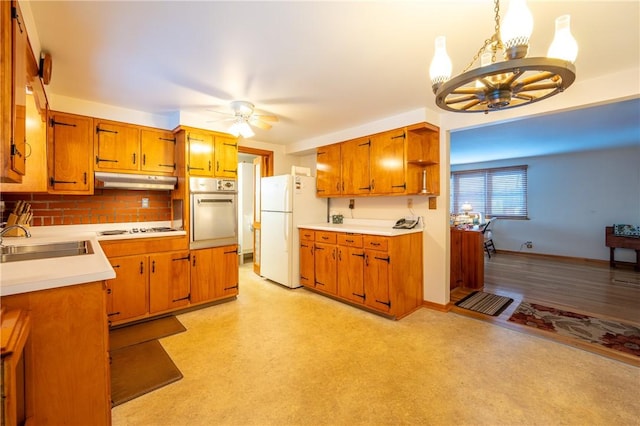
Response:
[{"label": "brown wood plank floor in the adjoining room", "polygon": [[[640,324],[640,272],[630,266],[499,252],[485,256],[484,277],[484,291],[514,299],[500,317],[526,300]],[[452,291],[452,303],[469,292]]]}]

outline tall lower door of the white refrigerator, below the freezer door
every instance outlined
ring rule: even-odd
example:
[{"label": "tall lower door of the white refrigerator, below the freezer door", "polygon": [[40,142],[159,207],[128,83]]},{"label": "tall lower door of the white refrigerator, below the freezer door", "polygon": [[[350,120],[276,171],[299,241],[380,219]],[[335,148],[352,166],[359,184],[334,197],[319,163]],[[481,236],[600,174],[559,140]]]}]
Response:
[{"label": "tall lower door of the white refrigerator, below the freezer door", "polygon": [[291,213],[262,212],[260,275],[287,287],[298,287],[291,277],[293,231]]}]

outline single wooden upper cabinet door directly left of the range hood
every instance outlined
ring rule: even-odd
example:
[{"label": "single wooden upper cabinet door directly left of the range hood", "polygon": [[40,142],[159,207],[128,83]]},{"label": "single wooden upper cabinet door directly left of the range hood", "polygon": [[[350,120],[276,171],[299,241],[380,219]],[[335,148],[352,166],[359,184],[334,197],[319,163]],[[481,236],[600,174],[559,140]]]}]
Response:
[{"label": "single wooden upper cabinet door directly left of the range hood", "polygon": [[50,111],[47,120],[49,192],[93,194],[92,119]]}]

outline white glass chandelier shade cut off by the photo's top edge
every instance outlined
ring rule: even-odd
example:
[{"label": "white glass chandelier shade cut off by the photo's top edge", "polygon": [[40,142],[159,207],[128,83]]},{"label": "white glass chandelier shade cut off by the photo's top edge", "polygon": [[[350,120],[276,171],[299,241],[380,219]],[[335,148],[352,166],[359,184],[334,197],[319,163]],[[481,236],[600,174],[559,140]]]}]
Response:
[{"label": "white glass chandelier shade cut off by the photo's top edge", "polygon": [[525,0],[511,0],[500,27],[500,38],[508,59],[527,56],[533,33],[533,15]]}]

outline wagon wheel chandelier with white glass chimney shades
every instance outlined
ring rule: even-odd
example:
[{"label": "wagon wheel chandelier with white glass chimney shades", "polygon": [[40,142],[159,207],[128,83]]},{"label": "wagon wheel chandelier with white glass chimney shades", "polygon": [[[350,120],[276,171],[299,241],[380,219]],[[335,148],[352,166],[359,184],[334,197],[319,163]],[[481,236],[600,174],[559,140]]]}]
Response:
[{"label": "wagon wheel chandelier with white glass chimney shades", "polygon": [[[557,95],[576,78],[573,63],[578,44],[570,16],[556,19],[556,33],[546,57],[526,58],[533,17],[525,0],[511,0],[500,27],[500,1],[495,0],[495,33],[486,39],[462,74],[451,78],[445,37],[436,38],[429,76],[436,105],[452,112],[484,112],[529,105]],[[499,53],[503,61],[497,60]],[[480,59],[480,66],[469,70]]]}]

